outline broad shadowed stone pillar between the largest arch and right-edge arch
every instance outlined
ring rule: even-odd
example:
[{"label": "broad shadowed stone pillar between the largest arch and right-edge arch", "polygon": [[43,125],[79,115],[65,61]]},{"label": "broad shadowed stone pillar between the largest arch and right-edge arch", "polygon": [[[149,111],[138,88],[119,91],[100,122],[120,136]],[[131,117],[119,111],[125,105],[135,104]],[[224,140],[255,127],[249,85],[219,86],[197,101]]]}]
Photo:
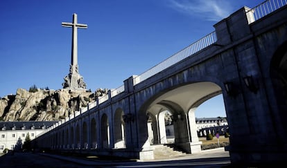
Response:
[{"label": "broad shadowed stone pillar between the largest arch and right-edge arch", "polygon": [[[223,74],[225,76],[223,82],[232,82],[237,90],[235,95],[230,95],[224,85],[221,86],[230,133],[230,145],[226,149],[229,150],[230,159],[234,163],[243,160],[245,162],[268,162],[268,160],[277,160],[279,156],[283,156],[282,153],[286,152],[284,144],[278,142],[277,123],[274,122],[275,114],[269,106],[268,96],[270,95],[266,94],[266,91],[273,89],[264,88],[266,86],[264,86],[262,72],[266,70],[261,68],[262,63],[258,58],[259,50],[272,47],[272,45],[257,48],[258,44],[254,37],[256,32],[252,32],[249,25],[252,21],[252,14],[246,15],[247,10],[250,9],[241,8],[214,26],[218,36],[217,43],[226,48],[230,47],[230,50],[220,53],[221,59],[224,60],[225,70],[229,72],[228,75]],[[268,22],[265,24],[267,25]],[[270,37],[266,34],[266,37],[259,40],[268,38]],[[243,41],[244,44],[241,45]],[[257,82],[258,91],[251,91],[247,87],[244,79],[248,76]]]}]

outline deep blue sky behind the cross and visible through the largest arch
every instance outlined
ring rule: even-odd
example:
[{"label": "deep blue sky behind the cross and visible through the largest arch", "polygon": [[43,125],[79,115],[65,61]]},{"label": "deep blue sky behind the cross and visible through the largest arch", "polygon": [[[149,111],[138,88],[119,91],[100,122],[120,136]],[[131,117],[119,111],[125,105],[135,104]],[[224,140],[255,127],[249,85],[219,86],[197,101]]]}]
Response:
[{"label": "deep blue sky behind the cross and visible through the largest arch", "polygon": [[[33,84],[62,88],[71,60],[71,28],[61,23],[71,22],[73,13],[88,25],[78,30],[78,64],[87,88],[95,91],[121,86],[214,31],[213,25],[232,12],[261,2],[0,0],[0,97]],[[200,106],[197,117],[225,116],[221,95],[205,106],[209,109]]]}]

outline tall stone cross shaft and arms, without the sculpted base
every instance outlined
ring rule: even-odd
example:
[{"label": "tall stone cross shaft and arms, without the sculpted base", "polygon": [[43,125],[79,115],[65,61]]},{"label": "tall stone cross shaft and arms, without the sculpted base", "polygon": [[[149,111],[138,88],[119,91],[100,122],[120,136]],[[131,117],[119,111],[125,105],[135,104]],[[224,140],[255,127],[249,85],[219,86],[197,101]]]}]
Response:
[{"label": "tall stone cross shaft and arms, without the sculpted base", "polygon": [[78,70],[78,28],[87,28],[87,24],[78,24],[77,14],[73,14],[73,23],[62,22],[63,27],[73,28],[71,66],[73,73]]}]

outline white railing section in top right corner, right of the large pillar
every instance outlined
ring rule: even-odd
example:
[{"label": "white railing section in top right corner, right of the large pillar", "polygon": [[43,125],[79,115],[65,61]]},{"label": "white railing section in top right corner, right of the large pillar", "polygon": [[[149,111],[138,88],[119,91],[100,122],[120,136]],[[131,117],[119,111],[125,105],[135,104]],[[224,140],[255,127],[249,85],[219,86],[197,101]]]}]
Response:
[{"label": "white railing section in top right corner, right of the large pillar", "polygon": [[[266,15],[270,14],[271,12],[274,12],[275,10],[283,6],[286,6],[286,4],[287,0],[263,1],[263,3],[260,3],[258,6],[255,6],[254,8],[246,12],[249,24],[261,19],[262,17],[265,17]],[[250,19],[250,16],[252,16],[252,19]]]}]

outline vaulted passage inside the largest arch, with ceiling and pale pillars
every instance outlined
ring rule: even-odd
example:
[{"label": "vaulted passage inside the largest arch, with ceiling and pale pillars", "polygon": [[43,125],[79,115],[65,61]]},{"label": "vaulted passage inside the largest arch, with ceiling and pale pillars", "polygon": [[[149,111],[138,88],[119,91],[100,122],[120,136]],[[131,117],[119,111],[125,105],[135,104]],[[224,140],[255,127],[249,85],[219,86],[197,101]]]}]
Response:
[{"label": "vaulted passage inside the largest arch, with ceiling and pale pillars", "polygon": [[[148,139],[150,144],[168,143],[166,126],[172,126],[174,143],[188,153],[200,151],[195,111],[202,102],[221,94],[221,88],[212,82],[198,82],[179,86],[155,95],[153,102],[146,105],[148,115]],[[166,115],[170,116],[168,117]],[[171,124],[172,123],[172,124]],[[170,126],[171,127],[171,126]]]}]

